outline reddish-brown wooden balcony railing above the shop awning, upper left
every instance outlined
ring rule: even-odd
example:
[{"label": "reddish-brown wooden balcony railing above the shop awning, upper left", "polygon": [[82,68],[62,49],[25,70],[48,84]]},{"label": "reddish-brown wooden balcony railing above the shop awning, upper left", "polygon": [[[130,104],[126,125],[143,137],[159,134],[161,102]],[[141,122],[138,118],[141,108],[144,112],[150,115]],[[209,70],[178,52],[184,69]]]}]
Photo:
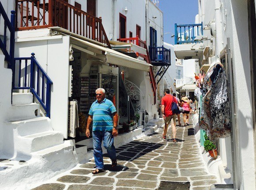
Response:
[{"label": "reddish-brown wooden balcony railing above the shop awning, upper left", "polygon": [[16,30],[60,26],[110,48],[101,18],[94,17],[64,0],[15,1]]}]

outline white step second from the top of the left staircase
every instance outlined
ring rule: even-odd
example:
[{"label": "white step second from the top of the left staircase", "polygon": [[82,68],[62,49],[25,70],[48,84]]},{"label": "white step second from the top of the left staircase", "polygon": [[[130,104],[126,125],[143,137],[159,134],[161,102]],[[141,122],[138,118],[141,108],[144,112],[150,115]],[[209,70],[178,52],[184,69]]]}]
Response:
[{"label": "white step second from the top of the left staircase", "polygon": [[31,119],[37,117],[37,113],[40,113],[40,106],[37,103],[13,105],[7,120]]}]

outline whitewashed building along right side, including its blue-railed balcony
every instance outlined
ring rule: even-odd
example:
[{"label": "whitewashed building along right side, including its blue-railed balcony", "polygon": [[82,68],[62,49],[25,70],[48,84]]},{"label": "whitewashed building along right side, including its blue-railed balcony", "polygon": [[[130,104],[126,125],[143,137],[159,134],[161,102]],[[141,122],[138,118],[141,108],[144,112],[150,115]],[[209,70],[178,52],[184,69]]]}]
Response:
[{"label": "whitewashed building along right side, including its blue-railed balcony", "polygon": [[215,190],[256,189],[255,5],[251,0],[199,0],[196,24],[185,26],[185,37],[179,38],[180,26],[176,26],[177,58],[198,58],[205,73],[221,62],[226,71],[231,136],[218,140],[217,159],[203,152],[209,171],[218,175],[218,183],[229,184],[213,185]]}]

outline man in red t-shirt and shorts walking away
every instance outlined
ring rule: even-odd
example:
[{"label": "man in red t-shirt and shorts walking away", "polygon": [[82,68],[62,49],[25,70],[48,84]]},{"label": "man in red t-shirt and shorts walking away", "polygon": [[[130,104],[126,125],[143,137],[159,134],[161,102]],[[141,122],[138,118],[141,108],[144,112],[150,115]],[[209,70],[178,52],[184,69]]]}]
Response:
[{"label": "man in red t-shirt and shorts walking away", "polygon": [[173,143],[177,143],[176,140],[176,114],[172,112],[172,102],[178,103],[177,99],[170,95],[170,90],[165,89],[165,96],[162,97],[162,117],[165,120],[165,127],[163,133],[163,139],[166,139],[166,133],[168,130],[168,125],[171,123],[173,131]]}]

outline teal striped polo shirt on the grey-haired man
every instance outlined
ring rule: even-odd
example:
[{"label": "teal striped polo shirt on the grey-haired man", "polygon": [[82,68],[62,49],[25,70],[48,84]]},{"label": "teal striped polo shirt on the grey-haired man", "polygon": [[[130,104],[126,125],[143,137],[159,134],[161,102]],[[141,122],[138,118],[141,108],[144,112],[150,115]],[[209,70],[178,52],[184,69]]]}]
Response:
[{"label": "teal striped polo shirt on the grey-haired man", "polygon": [[104,99],[98,103],[98,100],[92,103],[89,115],[92,116],[93,131],[112,131],[113,129],[113,113],[117,112],[113,102]]}]

